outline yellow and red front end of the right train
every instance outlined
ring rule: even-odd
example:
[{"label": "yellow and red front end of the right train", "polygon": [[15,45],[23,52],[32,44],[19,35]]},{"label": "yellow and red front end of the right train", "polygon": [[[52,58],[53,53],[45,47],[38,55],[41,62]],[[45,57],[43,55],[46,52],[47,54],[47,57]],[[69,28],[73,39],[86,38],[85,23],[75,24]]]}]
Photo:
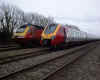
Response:
[{"label": "yellow and red front end of the right train", "polygon": [[60,24],[51,24],[45,27],[41,35],[40,44],[46,47],[56,47],[64,42],[64,33]]}]

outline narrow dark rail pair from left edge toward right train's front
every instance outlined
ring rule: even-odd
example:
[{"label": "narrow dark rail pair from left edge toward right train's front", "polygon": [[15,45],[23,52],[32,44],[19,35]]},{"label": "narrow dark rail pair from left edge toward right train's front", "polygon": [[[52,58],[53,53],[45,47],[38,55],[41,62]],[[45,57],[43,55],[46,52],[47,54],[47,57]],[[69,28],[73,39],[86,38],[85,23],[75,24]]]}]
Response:
[{"label": "narrow dark rail pair from left edge toward right train's front", "polygon": [[46,52],[46,51],[49,52],[48,48],[44,48],[44,49],[43,48],[35,48],[31,51],[29,50],[28,52],[21,52],[21,54],[19,54],[19,55],[0,58],[0,64],[1,65],[9,64],[11,62],[24,60],[24,59],[35,57],[35,56],[38,56],[38,55],[43,55],[44,52]]}]

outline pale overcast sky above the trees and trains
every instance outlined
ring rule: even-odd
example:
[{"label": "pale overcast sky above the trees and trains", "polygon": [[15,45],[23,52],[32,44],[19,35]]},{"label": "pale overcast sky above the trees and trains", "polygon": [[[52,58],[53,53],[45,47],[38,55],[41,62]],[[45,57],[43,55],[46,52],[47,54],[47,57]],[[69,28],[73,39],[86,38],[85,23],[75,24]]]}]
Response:
[{"label": "pale overcast sky above the trees and trains", "polygon": [[52,16],[59,23],[77,25],[100,36],[100,0],[2,0],[25,12]]}]

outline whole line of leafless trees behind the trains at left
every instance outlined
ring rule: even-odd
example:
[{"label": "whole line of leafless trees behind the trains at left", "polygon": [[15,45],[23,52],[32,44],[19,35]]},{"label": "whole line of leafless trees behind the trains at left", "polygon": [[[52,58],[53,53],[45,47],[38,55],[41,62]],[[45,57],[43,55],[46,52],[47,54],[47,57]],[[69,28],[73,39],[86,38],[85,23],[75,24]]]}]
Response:
[{"label": "whole line of leafless trees behind the trains at left", "polygon": [[10,40],[14,29],[28,23],[45,27],[54,23],[54,19],[38,13],[25,13],[14,5],[0,4],[0,41]]}]

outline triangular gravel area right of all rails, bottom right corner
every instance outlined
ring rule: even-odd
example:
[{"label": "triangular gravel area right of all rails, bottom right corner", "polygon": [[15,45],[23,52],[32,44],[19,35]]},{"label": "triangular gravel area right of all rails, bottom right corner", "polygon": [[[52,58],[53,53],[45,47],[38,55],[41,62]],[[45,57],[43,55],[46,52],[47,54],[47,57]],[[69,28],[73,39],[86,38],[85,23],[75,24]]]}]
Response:
[{"label": "triangular gravel area right of all rails, bottom right corner", "polygon": [[100,46],[48,80],[100,80]]}]

